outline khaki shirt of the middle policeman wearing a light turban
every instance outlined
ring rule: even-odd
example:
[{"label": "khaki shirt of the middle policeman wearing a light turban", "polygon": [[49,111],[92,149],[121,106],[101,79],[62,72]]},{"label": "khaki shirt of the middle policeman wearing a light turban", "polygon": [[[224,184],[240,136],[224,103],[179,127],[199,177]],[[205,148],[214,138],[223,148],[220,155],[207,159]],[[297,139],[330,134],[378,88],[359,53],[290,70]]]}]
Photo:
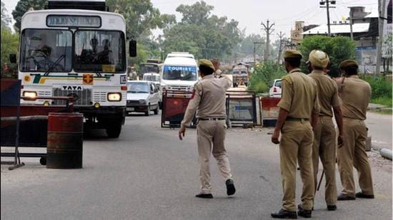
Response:
[{"label": "khaki shirt of the middle policeman wearing a light turban", "polygon": [[313,70],[309,77],[317,83],[319,106],[321,107],[319,115],[333,117],[332,106],[338,107],[340,105],[337,83],[321,70]]}]

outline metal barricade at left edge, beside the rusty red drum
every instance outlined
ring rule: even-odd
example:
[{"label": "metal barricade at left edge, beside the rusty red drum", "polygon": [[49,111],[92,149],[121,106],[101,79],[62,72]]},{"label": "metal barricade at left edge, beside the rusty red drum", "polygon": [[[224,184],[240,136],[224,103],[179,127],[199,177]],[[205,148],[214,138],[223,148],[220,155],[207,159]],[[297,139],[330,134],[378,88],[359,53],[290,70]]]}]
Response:
[{"label": "metal barricade at left edge, beside the rusty red drum", "polygon": [[[11,81],[11,83],[10,83]],[[11,88],[16,80],[1,80],[1,163],[3,158],[14,158],[14,169],[22,166],[20,157],[41,157],[40,163],[46,163],[46,152],[19,152],[19,147],[44,147],[47,146],[47,115],[49,112],[72,112],[74,97],[36,97],[36,99],[66,100],[64,106],[19,105],[21,98],[19,87]],[[11,88],[11,90],[10,90]],[[10,103],[14,100],[18,103]],[[9,162],[8,162],[9,163]]]}]

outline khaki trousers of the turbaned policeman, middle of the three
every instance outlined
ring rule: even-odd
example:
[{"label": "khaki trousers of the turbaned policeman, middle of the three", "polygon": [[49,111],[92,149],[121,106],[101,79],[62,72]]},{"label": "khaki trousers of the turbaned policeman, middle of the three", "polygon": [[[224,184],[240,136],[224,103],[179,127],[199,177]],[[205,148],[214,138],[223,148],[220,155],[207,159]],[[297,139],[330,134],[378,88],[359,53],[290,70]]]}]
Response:
[{"label": "khaki trousers of the turbaned policeman, middle of the three", "polygon": [[318,184],[319,158],[325,173],[325,201],[328,206],[336,204],[336,130],[332,117],[319,116],[314,127],[314,144],[312,146],[312,163],[314,169],[314,187]]}]

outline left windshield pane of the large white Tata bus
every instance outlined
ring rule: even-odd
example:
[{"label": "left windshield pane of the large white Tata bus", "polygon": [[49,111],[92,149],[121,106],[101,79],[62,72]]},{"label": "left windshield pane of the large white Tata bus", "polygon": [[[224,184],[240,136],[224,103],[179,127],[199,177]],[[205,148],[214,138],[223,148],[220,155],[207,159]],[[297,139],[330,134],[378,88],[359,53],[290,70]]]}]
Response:
[{"label": "left windshield pane of the large white Tata bus", "polygon": [[71,71],[72,33],[64,30],[24,29],[21,35],[20,70]]}]

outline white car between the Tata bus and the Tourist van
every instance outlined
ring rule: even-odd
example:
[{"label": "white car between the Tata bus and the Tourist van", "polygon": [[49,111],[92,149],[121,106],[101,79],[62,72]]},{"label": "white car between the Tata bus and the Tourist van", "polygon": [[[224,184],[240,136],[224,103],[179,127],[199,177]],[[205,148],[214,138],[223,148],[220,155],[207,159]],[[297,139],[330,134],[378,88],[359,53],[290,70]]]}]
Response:
[{"label": "white car between the Tata bus and the Tourist van", "polygon": [[144,112],[149,116],[159,113],[159,89],[150,81],[131,80],[127,83],[126,113]]}]

